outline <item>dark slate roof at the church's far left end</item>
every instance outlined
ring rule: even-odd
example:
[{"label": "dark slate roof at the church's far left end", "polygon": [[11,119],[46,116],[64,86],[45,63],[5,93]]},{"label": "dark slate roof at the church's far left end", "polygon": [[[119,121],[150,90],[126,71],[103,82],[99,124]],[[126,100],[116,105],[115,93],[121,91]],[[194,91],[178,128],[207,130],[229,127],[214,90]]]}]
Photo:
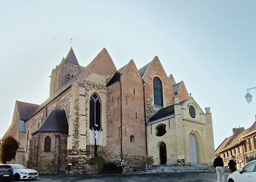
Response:
[{"label": "dark slate roof at the church's far left end", "polygon": [[33,114],[38,108],[39,105],[27,102],[16,101],[20,120],[27,120],[29,116]]}]

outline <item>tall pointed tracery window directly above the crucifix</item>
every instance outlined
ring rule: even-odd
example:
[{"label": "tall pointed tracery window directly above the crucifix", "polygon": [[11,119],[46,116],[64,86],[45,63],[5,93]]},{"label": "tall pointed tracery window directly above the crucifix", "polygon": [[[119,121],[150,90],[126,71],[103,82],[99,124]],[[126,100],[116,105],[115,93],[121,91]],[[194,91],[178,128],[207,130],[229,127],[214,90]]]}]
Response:
[{"label": "tall pointed tracery window directly above the crucifix", "polygon": [[101,128],[101,102],[97,94],[92,94],[89,105],[89,128],[100,131]]}]

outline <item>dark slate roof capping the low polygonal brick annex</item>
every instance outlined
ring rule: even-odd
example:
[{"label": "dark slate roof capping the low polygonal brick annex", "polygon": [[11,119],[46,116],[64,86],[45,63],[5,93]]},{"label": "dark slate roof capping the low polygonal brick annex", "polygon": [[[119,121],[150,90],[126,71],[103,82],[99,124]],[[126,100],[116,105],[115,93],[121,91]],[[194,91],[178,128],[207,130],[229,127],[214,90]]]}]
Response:
[{"label": "dark slate roof capping the low polygonal brick annex", "polygon": [[[44,123],[36,132],[63,132],[69,133],[69,124],[64,109],[53,109]],[[36,133],[35,132],[35,133]]]}]

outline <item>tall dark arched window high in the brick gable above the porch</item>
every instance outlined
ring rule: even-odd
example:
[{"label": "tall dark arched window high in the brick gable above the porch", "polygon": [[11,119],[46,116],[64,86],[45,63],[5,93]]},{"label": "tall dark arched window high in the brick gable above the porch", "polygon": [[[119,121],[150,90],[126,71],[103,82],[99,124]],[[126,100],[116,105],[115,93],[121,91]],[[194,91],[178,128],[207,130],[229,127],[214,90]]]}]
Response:
[{"label": "tall dark arched window high in the brick gable above the porch", "polygon": [[163,87],[158,77],[153,79],[154,105],[163,107]]}]

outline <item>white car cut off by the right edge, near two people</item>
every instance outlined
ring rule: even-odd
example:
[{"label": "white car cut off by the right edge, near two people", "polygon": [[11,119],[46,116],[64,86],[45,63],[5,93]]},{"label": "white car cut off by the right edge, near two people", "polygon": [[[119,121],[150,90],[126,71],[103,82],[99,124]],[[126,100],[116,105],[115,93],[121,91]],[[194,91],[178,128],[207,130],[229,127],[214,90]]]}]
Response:
[{"label": "white car cut off by the right edge, near two people", "polygon": [[255,182],[256,181],[256,160],[248,162],[243,168],[234,171],[228,176],[228,182]]}]

